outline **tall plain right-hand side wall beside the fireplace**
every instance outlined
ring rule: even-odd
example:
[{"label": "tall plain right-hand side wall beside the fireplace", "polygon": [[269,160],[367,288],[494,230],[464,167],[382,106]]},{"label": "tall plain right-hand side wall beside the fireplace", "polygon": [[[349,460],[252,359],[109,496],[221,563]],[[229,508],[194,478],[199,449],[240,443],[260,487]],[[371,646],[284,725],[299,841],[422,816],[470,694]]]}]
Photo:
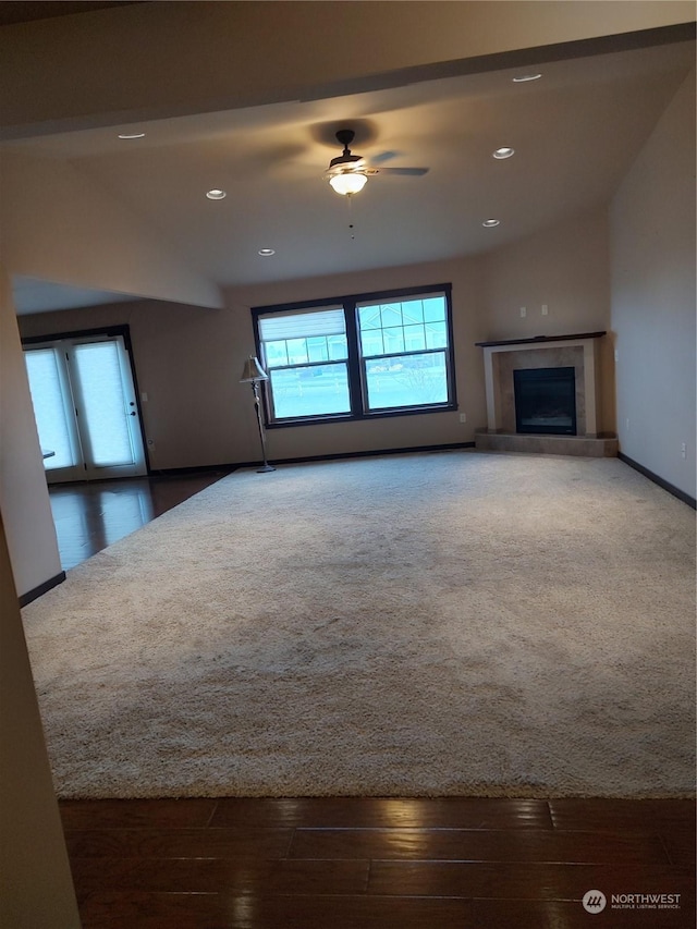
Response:
[{"label": "tall plain right-hand side wall beside the fireplace", "polygon": [[693,498],[695,193],[693,72],[610,211],[620,451]]}]

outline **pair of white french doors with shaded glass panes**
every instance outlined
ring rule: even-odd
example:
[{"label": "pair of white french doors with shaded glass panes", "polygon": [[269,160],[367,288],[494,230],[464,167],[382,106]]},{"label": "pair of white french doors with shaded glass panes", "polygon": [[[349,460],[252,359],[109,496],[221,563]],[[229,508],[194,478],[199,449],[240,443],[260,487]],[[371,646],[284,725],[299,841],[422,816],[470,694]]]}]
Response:
[{"label": "pair of white french doors with shaded glass panes", "polygon": [[147,473],[122,335],[30,345],[24,358],[49,484]]}]

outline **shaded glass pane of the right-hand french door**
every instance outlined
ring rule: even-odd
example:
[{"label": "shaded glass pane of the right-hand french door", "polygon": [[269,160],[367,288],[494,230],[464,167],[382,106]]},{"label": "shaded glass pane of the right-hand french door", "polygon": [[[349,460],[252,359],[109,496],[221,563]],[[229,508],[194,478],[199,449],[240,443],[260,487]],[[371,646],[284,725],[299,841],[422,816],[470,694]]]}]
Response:
[{"label": "shaded glass pane of the right-hand french door", "polygon": [[95,467],[131,464],[134,455],[117,343],[75,345],[73,362],[87,419],[91,464]]}]

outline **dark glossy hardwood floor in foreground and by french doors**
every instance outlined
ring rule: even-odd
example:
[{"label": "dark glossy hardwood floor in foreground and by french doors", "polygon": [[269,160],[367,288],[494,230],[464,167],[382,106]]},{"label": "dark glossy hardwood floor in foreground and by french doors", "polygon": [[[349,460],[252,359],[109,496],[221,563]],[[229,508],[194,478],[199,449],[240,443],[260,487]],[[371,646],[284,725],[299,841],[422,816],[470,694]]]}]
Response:
[{"label": "dark glossy hardwood floor in foreground and by french doors", "polygon": [[[52,488],[65,570],[220,477]],[[60,809],[83,929],[695,926],[693,800],[225,797]],[[584,907],[591,890],[602,910]]]}]

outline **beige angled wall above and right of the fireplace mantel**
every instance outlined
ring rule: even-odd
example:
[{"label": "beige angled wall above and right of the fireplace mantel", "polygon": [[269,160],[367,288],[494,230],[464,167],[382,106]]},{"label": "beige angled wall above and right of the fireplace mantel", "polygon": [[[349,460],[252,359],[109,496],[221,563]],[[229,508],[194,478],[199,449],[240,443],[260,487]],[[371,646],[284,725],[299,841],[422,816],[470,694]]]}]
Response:
[{"label": "beige angled wall above and right of the fireplace mantel", "polygon": [[608,211],[599,206],[489,252],[482,256],[480,311],[486,340],[607,331],[599,346],[599,431],[612,433],[616,425],[608,248]]}]

